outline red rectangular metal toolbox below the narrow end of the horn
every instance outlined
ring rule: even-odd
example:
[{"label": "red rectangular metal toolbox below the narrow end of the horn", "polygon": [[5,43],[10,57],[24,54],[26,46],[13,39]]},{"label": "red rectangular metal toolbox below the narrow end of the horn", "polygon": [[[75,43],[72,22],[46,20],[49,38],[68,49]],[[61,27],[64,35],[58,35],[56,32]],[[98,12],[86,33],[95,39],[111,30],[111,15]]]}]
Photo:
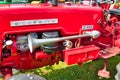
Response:
[{"label": "red rectangular metal toolbox below the narrow end of the horn", "polygon": [[95,60],[99,56],[100,48],[95,45],[84,46],[64,51],[64,60],[68,65],[81,64],[88,60]]}]

